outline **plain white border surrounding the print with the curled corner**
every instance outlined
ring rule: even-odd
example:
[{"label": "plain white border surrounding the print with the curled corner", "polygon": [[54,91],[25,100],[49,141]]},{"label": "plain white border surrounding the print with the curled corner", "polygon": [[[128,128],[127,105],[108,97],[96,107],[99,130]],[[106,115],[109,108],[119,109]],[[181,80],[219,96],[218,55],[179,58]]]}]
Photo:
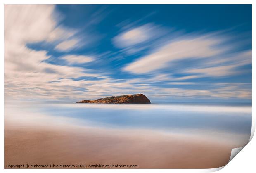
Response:
[{"label": "plain white border surrounding the print with the curled corner", "polygon": [[[142,0],[2,0],[2,5],[0,7],[0,13],[1,13],[1,48],[2,48],[2,59],[1,59],[1,81],[4,83],[4,4],[252,4],[252,31],[256,31],[255,27],[255,3],[253,0],[147,0],[147,1],[142,1]],[[252,66],[254,67],[255,65],[255,32],[252,33]],[[252,69],[252,78],[256,78],[256,70],[255,68]],[[256,86],[255,80],[252,81],[252,89],[254,89]],[[1,116],[1,139],[4,139],[4,85],[1,85],[1,103],[2,103],[2,116]],[[251,138],[254,134],[255,131],[255,92],[252,90],[252,121],[253,121],[253,126],[252,126],[252,135]],[[251,140],[251,139],[250,139]],[[1,161],[1,170],[4,169],[4,142],[1,140],[1,154],[2,156],[0,157]],[[246,146],[245,149],[242,150],[240,156],[233,159],[227,166],[226,168],[222,169],[220,172],[254,172],[255,171],[255,164],[254,164],[254,158],[256,154],[256,149],[254,146],[256,144],[255,139],[251,140],[249,142],[248,147]],[[133,170],[119,170],[119,169],[72,169],[72,172],[178,172],[178,173],[184,173],[184,172],[212,172],[212,171],[218,171],[221,168],[216,168],[216,169],[133,169]],[[46,170],[41,170],[41,169],[5,169],[4,171],[6,172],[45,172]],[[56,171],[62,171],[62,172],[71,172],[69,169],[48,169],[47,172],[56,172]]]}]

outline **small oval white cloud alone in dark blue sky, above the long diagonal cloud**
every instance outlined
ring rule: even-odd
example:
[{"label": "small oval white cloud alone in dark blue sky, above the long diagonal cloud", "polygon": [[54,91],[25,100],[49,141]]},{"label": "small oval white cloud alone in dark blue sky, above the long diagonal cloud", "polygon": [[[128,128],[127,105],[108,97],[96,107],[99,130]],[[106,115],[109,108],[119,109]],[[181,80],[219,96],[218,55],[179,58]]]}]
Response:
[{"label": "small oval white cloud alone in dark blue sky, above the long diagonal cloud", "polygon": [[156,26],[153,24],[145,24],[120,33],[113,38],[113,42],[116,47],[121,48],[134,46],[154,38],[157,35],[155,30]]}]

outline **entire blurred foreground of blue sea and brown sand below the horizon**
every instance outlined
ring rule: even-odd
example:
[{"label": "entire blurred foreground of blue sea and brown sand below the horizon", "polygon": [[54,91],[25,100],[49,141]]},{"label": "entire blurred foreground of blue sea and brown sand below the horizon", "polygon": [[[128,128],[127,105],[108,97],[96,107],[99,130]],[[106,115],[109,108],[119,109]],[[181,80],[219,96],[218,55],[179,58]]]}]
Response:
[{"label": "entire blurred foreground of blue sea and brown sand below the horizon", "polygon": [[248,106],[5,104],[5,168],[218,168],[250,123]]}]

